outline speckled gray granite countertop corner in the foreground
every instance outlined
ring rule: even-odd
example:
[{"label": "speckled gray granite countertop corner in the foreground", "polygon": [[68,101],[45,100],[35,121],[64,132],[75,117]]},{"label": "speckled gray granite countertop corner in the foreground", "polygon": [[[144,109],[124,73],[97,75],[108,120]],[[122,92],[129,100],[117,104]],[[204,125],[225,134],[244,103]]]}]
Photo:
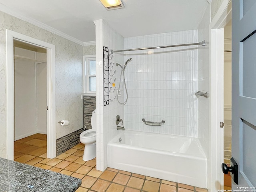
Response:
[{"label": "speckled gray granite countertop corner in the foreground", "polygon": [[0,192],[74,192],[81,180],[0,158]]}]

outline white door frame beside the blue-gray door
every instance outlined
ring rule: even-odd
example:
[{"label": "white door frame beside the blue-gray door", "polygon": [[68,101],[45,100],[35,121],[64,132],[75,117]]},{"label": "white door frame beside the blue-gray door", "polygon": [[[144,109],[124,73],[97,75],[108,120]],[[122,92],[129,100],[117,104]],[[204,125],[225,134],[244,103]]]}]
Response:
[{"label": "white door frame beside the blue-gray door", "polygon": [[223,0],[209,26],[210,35],[210,172],[208,189],[212,192],[224,189],[224,175],[221,164],[224,157],[224,26],[232,18],[231,0]]}]

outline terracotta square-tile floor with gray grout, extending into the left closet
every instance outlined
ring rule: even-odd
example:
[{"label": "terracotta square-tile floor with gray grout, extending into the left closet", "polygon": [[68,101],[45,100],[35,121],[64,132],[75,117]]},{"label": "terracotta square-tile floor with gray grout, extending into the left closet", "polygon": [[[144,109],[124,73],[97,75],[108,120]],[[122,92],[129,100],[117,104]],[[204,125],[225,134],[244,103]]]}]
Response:
[{"label": "terracotta square-tile floor with gray grout, extending into the left closet", "polygon": [[96,170],[96,158],[83,161],[84,144],[78,144],[54,159],[46,157],[46,135],[35,134],[14,142],[14,160],[82,180],[76,192],[207,192],[176,182],[113,168]]}]

